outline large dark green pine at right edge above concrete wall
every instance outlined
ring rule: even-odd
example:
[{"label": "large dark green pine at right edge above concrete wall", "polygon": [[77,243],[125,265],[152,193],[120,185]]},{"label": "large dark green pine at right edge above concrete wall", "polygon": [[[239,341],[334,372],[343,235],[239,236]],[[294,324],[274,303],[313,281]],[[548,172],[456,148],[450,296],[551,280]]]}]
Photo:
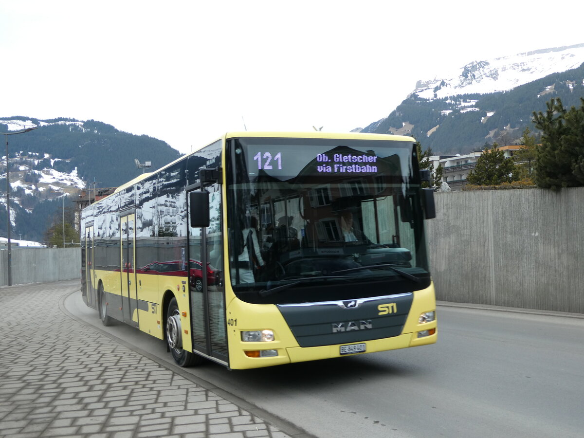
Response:
[{"label": "large dark green pine at right edge above concrete wall", "polygon": [[541,130],[536,148],[536,184],[552,190],[584,186],[584,98],[568,111],[560,99],[546,103],[545,114],[533,113]]}]

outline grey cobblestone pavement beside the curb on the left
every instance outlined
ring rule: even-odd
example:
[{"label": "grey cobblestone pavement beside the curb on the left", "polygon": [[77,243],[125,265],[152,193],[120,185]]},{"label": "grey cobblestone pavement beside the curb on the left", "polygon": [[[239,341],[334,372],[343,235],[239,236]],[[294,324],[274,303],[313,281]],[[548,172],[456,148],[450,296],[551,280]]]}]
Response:
[{"label": "grey cobblestone pavement beside the curb on the left", "polygon": [[285,434],[71,319],[79,281],[0,288],[0,437],[273,437]]}]

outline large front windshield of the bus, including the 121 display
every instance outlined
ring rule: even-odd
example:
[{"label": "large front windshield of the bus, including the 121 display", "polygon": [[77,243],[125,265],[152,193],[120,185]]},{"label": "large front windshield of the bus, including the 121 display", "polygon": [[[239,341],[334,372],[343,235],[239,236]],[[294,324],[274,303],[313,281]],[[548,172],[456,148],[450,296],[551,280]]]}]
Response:
[{"label": "large front windshield of the bus, including the 121 display", "polygon": [[235,294],[287,304],[428,287],[415,151],[409,141],[228,140]]}]

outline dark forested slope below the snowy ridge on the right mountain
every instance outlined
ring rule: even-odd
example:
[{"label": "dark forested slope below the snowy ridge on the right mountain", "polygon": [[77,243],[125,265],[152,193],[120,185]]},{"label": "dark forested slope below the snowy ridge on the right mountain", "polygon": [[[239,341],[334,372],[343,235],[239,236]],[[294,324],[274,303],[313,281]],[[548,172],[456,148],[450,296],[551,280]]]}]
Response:
[{"label": "dark forested slope below the snowy ridge on the right mountain", "polygon": [[[427,100],[412,94],[391,114],[362,132],[395,133],[404,123],[413,124],[412,137],[435,154],[463,154],[482,150],[485,143],[512,144],[524,128],[537,130],[533,112],[560,98],[566,107],[578,106],[584,96],[584,64],[548,75],[506,92],[467,94]],[[430,135],[428,135],[431,132]]]}]

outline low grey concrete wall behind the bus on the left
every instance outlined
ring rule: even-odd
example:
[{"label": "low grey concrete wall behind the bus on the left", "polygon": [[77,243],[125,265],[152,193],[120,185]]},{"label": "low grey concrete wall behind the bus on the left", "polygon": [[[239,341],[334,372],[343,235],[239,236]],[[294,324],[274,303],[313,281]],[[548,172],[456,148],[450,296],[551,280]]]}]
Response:
[{"label": "low grey concrete wall behind the bus on the left", "polygon": [[[11,252],[12,284],[81,278],[80,248],[22,248]],[[7,284],[8,251],[3,250],[0,251],[0,286]]]}]

